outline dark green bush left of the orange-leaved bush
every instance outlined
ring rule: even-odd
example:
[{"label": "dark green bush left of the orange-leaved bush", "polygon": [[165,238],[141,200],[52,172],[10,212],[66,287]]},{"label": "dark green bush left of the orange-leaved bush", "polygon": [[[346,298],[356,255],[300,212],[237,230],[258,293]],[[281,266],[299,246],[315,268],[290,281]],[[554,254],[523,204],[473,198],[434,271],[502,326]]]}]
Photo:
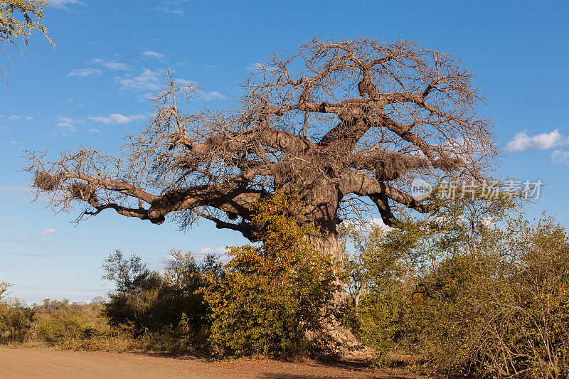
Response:
[{"label": "dark green bush left of the orange-leaved bush", "polygon": [[206,305],[198,289],[204,276],[223,275],[213,255],[198,264],[190,252],[171,250],[162,274],[150,271],[140,257],[124,258],[120,250],[107,257],[105,279],[114,280],[115,292],[103,313],[111,326],[141,337],[145,346],[188,350],[203,346],[208,331]]}]

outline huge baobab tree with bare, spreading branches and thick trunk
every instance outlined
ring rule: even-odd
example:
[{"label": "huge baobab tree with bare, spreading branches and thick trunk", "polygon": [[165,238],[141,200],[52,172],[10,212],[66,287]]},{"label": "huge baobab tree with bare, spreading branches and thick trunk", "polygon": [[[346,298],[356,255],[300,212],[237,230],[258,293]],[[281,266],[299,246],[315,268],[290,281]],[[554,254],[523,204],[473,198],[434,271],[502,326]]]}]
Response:
[{"label": "huge baobab tree with bare, spreading branches and thick trunk", "polygon": [[436,195],[410,196],[410,181],[480,181],[498,152],[484,97],[454,55],[408,41],[318,41],[273,53],[241,83],[240,107],[191,110],[200,89],[166,75],[156,112],[125,138],[122,156],[81,146],[50,161],[28,151],[33,186],[54,210],[119,215],[190,227],[205,218],[250,240],[250,205],[296,188],[299,223],[323,232],[317,249],[341,260],[336,225],[393,209],[432,213]]}]

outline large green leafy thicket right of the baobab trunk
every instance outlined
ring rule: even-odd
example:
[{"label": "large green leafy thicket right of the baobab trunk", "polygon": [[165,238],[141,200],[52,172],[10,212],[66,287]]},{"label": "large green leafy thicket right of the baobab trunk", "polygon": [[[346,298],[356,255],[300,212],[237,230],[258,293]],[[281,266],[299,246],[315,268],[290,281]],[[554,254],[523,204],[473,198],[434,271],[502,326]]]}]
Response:
[{"label": "large green leafy thicket right of the baobab trunk", "polygon": [[366,290],[353,327],[383,361],[403,349],[449,373],[566,378],[568,234],[551,218],[512,218],[504,204],[484,209],[454,208],[444,233],[409,220],[356,238]]}]

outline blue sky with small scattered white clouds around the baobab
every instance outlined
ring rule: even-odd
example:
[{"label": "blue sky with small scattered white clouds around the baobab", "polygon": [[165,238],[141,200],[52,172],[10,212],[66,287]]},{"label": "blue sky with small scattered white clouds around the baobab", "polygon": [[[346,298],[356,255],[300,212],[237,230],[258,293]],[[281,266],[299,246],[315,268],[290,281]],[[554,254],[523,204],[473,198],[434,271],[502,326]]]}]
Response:
[{"label": "blue sky with small scattered white clouds around the baobab", "polygon": [[[79,143],[117,151],[144,125],[164,71],[191,80],[198,106],[231,105],[236,82],[274,50],[313,36],[397,38],[453,52],[477,72],[506,157],[500,172],[550,183],[529,209],[569,225],[569,6],[559,1],[107,1],[58,0],[45,22],[56,48],[34,36],[28,55],[2,57],[0,88],[0,280],[14,296],[90,300],[104,295],[100,265],[112,250],[161,267],[168,250],[198,254],[245,242],[204,221],[181,233],[103,213],[78,215],[30,203],[22,151],[55,154]],[[507,149],[506,149],[507,148]]]}]

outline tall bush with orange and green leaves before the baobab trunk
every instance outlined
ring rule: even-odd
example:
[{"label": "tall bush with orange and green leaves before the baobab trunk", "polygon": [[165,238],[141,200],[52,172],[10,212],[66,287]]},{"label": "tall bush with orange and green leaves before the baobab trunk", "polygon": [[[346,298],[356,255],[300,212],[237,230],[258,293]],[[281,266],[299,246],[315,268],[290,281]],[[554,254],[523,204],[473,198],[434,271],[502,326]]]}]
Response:
[{"label": "tall bush with orange and green leaves before the baobab trunk", "polygon": [[339,286],[329,256],[304,238],[318,231],[292,217],[298,204],[285,192],[256,203],[252,221],[266,225],[257,235],[262,245],[233,247],[225,276],[208,276],[203,293],[217,353],[284,357],[329,349],[326,324],[334,322]]}]

